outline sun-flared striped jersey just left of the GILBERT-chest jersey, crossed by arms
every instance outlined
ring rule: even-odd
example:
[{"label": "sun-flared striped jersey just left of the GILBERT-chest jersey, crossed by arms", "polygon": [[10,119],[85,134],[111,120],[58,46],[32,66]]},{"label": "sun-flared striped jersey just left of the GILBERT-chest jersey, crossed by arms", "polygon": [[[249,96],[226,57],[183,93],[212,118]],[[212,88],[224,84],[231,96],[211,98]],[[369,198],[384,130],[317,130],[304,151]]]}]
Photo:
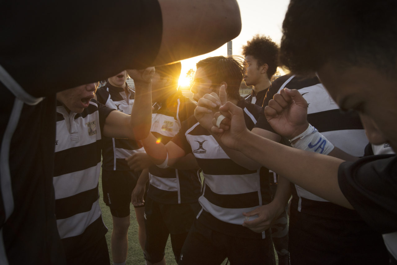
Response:
[{"label": "sun-flared striped jersey just left of the GILBERT-chest jersey, crossed by arms", "polygon": [[[154,103],[152,134],[164,145],[181,129],[181,123],[194,114],[196,104],[181,91],[166,100]],[[154,201],[164,204],[197,202],[201,194],[199,170],[178,170],[175,168],[149,167],[148,195]]]}]

